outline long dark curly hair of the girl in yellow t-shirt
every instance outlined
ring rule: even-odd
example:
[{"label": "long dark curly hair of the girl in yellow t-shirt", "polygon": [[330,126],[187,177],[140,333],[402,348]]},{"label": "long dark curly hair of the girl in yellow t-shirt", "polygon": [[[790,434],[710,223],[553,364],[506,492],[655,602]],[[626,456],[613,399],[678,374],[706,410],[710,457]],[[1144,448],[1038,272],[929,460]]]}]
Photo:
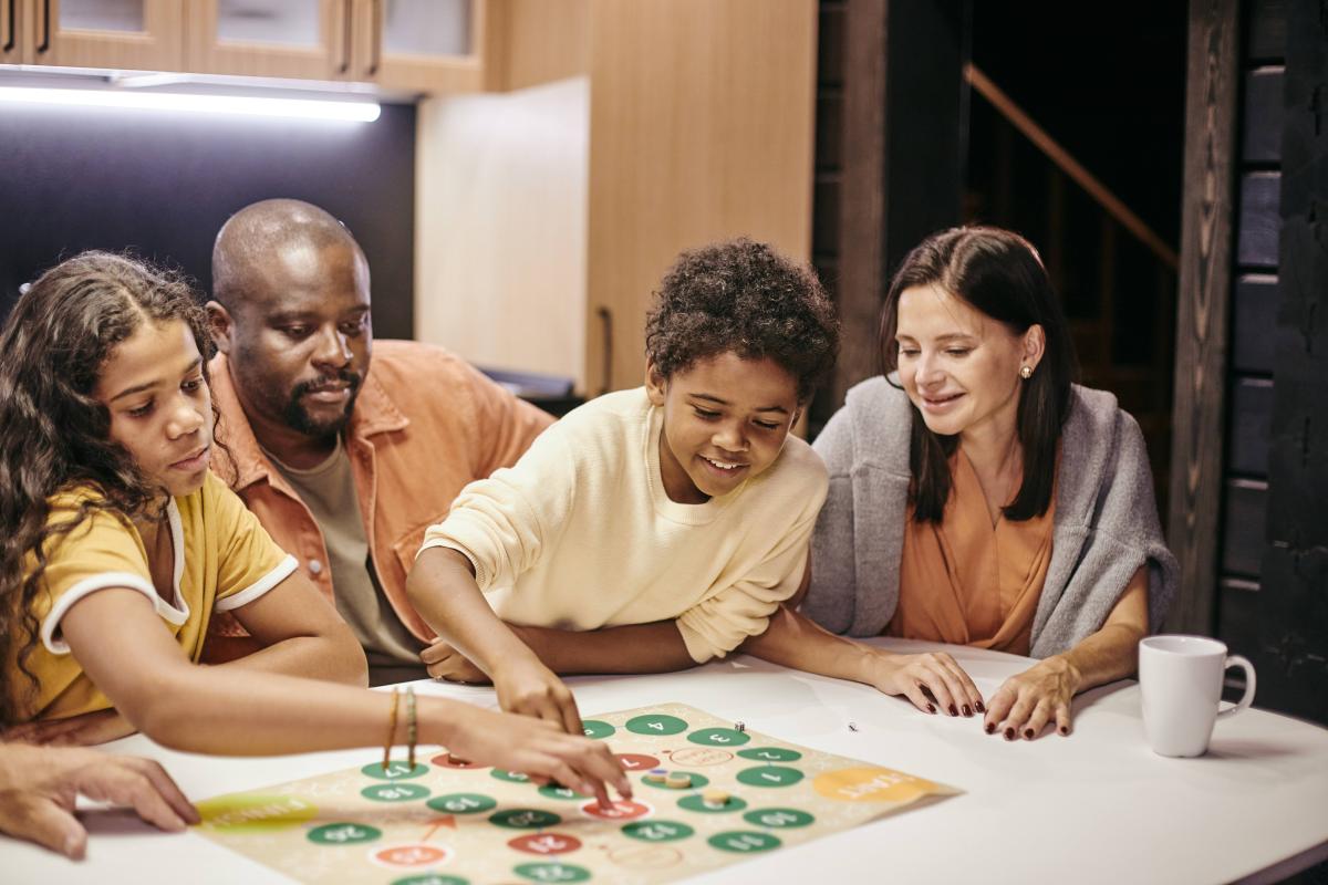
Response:
[{"label": "long dark curly hair of the girl in yellow t-shirt", "polygon": [[[84,252],[46,271],[0,330],[0,724],[19,722],[37,681],[27,659],[37,642],[32,601],[53,537],[93,512],[146,513],[163,494],[110,439],[110,413],[93,397],[102,366],[145,324],[179,320],[210,353],[203,310],[179,276],[133,257]],[[206,377],[206,374],[205,374]],[[94,491],[76,513],[49,524],[52,495]],[[36,565],[28,571],[28,556]]]}]

